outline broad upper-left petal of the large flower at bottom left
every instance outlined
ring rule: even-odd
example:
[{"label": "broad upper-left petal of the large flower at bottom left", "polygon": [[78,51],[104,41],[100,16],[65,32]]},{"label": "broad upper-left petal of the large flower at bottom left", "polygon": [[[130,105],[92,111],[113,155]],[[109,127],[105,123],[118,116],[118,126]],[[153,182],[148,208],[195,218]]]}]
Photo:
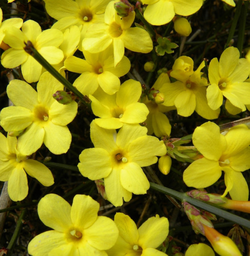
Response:
[{"label": "broad upper-left petal of the large flower at bottom left", "polygon": [[59,195],[45,195],[38,203],[37,211],[41,221],[56,231],[67,232],[72,226],[71,206]]}]

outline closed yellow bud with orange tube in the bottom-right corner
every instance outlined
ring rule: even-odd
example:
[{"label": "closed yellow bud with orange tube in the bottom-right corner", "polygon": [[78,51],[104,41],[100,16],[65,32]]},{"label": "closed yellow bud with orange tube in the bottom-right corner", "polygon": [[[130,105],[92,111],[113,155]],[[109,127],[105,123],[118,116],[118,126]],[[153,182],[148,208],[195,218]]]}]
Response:
[{"label": "closed yellow bud with orange tube in the bottom-right corner", "polygon": [[236,244],[228,236],[223,236],[216,229],[203,226],[205,236],[210,244],[220,256],[242,256]]}]

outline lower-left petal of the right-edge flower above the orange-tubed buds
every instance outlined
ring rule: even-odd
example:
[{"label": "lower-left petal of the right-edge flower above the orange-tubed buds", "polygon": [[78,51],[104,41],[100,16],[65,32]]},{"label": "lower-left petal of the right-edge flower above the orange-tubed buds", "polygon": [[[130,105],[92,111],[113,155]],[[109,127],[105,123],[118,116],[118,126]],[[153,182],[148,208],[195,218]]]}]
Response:
[{"label": "lower-left petal of the right-edge flower above the orange-tubed buds", "polygon": [[221,174],[218,161],[201,158],[187,167],[183,173],[183,180],[188,187],[205,188],[213,185]]}]

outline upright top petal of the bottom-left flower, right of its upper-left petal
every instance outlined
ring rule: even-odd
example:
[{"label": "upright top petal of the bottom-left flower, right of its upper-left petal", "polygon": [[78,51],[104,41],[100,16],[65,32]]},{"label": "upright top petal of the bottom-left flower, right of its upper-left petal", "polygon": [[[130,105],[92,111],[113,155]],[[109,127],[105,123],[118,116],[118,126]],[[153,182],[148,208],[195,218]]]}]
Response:
[{"label": "upright top petal of the bottom-left flower, right of its upper-left petal", "polygon": [[89,195],[75,195],[71,207],[72,223],[83,229],[91,227],[98,217],[99,207],[99,203]]}]

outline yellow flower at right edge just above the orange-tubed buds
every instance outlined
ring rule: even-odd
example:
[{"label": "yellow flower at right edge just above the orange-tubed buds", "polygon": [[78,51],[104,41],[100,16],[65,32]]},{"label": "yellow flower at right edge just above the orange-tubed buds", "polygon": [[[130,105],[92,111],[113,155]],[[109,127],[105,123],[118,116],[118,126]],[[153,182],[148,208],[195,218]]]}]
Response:
[{"label": "yellow flower at right edge just above the orange-tubed buds", "polygon": [[242,171],[250,168],[250,130],[246,125],[220,134],[219,126],[206,122],[193,134],[194,146],[203,154],[183,173],[189,187],[204,188],[214,184],[225,172],[226,191],[233,200],[247,201],[248,186]]}]

